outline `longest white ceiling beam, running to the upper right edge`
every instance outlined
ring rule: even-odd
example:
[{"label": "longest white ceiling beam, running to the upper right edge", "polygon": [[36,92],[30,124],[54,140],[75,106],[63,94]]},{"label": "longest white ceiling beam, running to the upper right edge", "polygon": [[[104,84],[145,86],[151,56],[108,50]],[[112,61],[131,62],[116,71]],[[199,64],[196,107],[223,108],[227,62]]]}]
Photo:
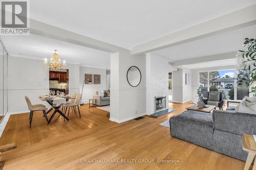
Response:
[{"label": "longest white ceiling beam, running to the upper right edge", "polygon": [[157,38],[132,48],[132,55],[150,53],[166,47],[195,41],[256,24],[256,4],[200,23],[199,25]]}]

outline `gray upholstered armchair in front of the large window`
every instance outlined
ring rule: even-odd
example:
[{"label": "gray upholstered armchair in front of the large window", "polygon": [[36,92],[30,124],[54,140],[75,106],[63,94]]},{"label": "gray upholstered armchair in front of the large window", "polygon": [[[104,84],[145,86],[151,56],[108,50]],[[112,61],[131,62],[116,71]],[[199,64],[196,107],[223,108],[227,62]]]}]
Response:
[{"label": "gray upholstered armchair in front of the large window", "polygon": [[208,98],[204,101],[206,105],[217,106],[223,110],[224,100],[222,91],[209,91]]}]

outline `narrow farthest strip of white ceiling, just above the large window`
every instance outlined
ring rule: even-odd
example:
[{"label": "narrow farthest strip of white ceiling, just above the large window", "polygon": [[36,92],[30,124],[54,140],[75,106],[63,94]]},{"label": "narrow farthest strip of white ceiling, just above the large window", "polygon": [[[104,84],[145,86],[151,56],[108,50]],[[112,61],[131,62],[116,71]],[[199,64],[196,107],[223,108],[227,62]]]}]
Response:
[{"label": "narrow farthest strip of white ceiling, just above the large window", "polygon": [[219,66],[227,66],[227,65],[237,65],[237,59],[232,58],[232,59],[225,59],[225,60],[207,61],[207,62],[201,62],[196,64],[187,64],[182,66],[190,69],[197,69],[197,68],[209,68],[209,67],[219,67]]}]

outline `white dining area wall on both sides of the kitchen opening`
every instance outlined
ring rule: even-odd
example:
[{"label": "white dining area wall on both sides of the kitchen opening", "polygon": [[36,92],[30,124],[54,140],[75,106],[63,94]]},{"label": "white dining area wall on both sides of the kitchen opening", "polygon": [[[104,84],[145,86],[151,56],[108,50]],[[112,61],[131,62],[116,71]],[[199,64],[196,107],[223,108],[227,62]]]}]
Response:
[{"label": "white dining area wall on both sides of the kitchen opening", "polygon": [[[67,64],[70,72],[70,94],[79,92],[79,66]],[[29,96],[32,104],[47,104],[38,95],[49,93],[49,69],[42,60],[8,57],[8,112],[27,112],[24,96]]]}]

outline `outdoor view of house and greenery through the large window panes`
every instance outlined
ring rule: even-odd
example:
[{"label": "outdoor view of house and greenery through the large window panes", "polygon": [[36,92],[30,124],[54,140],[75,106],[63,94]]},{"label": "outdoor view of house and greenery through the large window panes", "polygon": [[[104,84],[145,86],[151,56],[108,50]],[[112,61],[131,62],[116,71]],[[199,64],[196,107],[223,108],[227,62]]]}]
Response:
[{"label": "outdoor view of house and greenery through the large window panes", "polygon": [[[245,84],[234,84],[234,71],[205,71],[199,72],[199,86],[203,91],[203,95],[207,98],[208,87],[210,91],[222,91],[224,100],[234,100],[234,87],[237,86],[237,100],[242,100],[245,95],[249,95],[249,88]],[[239,74],[239,70],[238,70]]]}]

